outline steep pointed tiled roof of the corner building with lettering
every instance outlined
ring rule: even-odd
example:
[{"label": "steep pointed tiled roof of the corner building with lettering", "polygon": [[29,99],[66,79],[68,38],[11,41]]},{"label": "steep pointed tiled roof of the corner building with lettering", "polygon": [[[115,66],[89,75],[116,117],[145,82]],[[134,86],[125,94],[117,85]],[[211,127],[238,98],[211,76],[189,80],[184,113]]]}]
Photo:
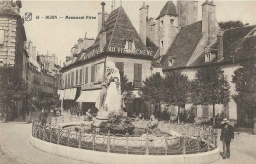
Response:
[{"label": "steep pointed tiled roof of the corner building with lettering", "polygon": [[[105,22],[105,32],[106,45],[104,49],[106,50],[109,47],[125,48],[127,40],[134,41],[135,49],[147,50],[139,34],[137,33],[135,27],[132,25],[132,22],[125,13],[123,7],[119,7],[110,13],[108,19]],[[90,46],[88,49],[83,50],[81,53],[79,53],[78,57],[73,59],[73,61],[71,62],[72,64],[70,65],[92,58],[90,52],[98,49],[99,47],[100,34],[97,35],[94,44]],[[70,67],[70,65],[66,67]]]}]

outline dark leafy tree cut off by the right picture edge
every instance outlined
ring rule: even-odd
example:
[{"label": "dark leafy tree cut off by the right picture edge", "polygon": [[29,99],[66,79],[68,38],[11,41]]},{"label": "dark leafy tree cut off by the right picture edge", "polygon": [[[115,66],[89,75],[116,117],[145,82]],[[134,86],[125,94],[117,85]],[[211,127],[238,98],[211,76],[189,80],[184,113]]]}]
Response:
[{"label": "dark leafy tree cut off by the right picture edge", "polygon": [[247,115],[256,117],[256,62],[251,60],[241,64],[243,67],[234,72],[232,82],[237,94],[233,96],[236,103],[242,104]]}]

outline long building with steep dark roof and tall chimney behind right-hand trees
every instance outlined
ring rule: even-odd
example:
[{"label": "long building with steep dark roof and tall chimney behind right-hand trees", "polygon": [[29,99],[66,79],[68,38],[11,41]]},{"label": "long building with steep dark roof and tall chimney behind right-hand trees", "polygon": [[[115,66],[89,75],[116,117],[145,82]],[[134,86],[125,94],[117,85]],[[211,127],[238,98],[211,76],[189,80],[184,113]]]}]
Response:
[{"label": "long building with steep dark roof and tall chimney behind right-hand trees", "polygon": [[[231,88],[228,105],[217,105],[217,113],[236,122],[247,116],[239,114],[232,98],[236,94],[232,83],[234,71],[241,63],[256,59],[256,26],[245,26],[222,31],[215,19],[215,5],[206,1],[202,5],[202,21],[181,27],[166,54],[156,59],[163,72],[180,70],[193,80],[198,69],[209,65],[219,65]],[[198,106],[198,117],[212,117],[211,106]]]}]

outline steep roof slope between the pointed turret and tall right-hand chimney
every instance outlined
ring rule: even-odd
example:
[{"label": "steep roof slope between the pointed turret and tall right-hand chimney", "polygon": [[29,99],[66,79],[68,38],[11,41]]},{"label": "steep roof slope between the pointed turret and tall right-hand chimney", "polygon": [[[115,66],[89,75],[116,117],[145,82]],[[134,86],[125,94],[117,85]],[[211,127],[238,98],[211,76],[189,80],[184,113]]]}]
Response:
[{"label": "steep roof slope between the pointed turret and tall right-hand chimney", "polygon": [[168,58],[175,59],[171,68],[186,66],[202,35],[202,21],[182,27],[166,55],[161,59],[161,63],[165,66],[164,69],[169,68]]}]

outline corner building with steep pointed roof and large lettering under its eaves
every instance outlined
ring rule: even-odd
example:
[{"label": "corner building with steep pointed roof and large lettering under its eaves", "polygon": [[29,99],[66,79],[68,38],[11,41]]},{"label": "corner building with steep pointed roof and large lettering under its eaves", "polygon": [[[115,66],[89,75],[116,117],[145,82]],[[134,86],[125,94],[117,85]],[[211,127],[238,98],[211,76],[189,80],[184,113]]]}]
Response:
[{"label": "corner building with steep pointed roof and large lettering under its eaves", "polygon": [[135,89],[151,75],[152,50],[147,49],[124,9],[113,10],[107,20],[104,13],[102,5],[102,27],[94,43],[61,70],[64,108],[78,101],[85,109],[96,102],[109,63],[114,63]]}]

